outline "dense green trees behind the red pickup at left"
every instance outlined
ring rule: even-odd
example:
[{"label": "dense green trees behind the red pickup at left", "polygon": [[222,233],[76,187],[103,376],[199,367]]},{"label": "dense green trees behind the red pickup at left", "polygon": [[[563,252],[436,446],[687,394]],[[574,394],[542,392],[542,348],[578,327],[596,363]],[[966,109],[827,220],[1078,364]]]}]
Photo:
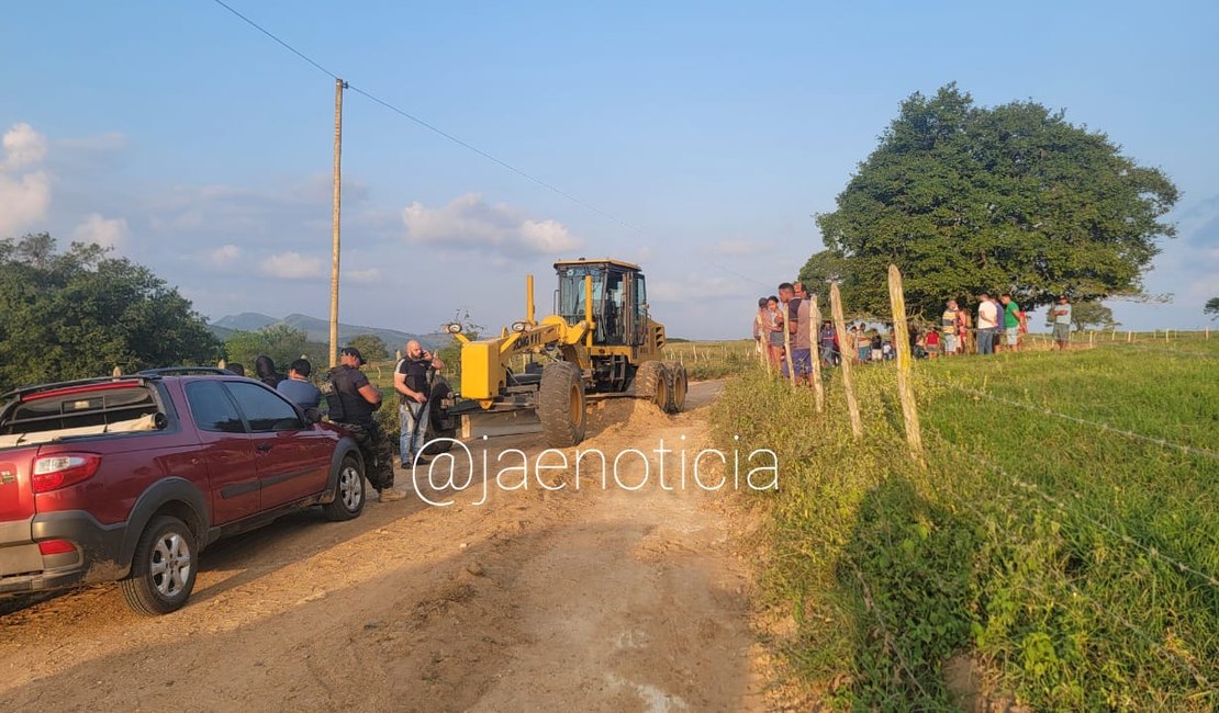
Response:
[{"label": "dense green trees behind the red pickup at left", "polygon": [[147,268],[49,234],[0,241],[0,388],[212,364],[221,344]]}]

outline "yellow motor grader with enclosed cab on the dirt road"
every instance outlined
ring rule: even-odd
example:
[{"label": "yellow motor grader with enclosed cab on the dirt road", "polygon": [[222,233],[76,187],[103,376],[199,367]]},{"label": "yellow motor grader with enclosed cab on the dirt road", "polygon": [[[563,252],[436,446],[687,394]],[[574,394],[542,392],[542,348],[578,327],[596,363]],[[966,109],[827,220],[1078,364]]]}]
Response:
[{"label": "yellow motor grader with enclosed cab on the dirt road", "polygon": [[499,336],[471,339],[460,324],[445,326],[461,342],[461,388],[438,416],[453,431],[461,419],[462,437],[541,431],[553,448],[574,445],[588,399],[600,394],[647,399],[669,414],[685,408],[685,367],[661,360],[664,326],[647,313],[639,265],[580,258],[555,271],[553,314],[535,319],[529,275],[524,319]]}]

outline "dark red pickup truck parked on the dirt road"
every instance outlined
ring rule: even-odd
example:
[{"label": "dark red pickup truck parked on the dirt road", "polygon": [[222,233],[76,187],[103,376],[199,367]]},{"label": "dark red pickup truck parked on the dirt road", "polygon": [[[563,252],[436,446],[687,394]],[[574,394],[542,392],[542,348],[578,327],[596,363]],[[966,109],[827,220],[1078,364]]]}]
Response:
[{"label": "dark red pickup truck parked on the dirt road", "polygon": [[364,506],[341,428],[224,370],[20,389],[0,410],[0,596],[119,580],[137,612],[187,601],[199,552],[321,505]]}]

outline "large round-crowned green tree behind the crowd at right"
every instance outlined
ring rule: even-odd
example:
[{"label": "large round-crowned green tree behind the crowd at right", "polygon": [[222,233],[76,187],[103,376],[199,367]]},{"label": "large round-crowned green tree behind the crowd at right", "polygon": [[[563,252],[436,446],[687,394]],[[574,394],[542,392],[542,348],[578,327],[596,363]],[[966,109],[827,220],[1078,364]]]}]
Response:
[{"label": "large round-crowned green tree behind the crowd at right", "polygon": [[[978,107],[954,84],[913,94],[817,217],[848,264],[852,309],[884,314],[886,271],[936,314],[947,298],[1011,292],[1026,309],[1142,292],[1176,187],[1121,156],[1104,134],[1028,102]],[[820,254],[820,253],[818,253]]]}]

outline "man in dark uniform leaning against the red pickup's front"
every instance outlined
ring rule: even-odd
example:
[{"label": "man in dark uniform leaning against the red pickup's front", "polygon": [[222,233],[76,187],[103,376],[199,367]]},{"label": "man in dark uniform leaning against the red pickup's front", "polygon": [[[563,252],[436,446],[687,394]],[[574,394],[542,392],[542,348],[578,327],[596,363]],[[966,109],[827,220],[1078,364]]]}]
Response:
[{"label": "man in dark uniform leaning against the red pickup's front", "polygon": [[345,427],[364,456],[364,475],[380,494],[382,503],[401,500],[406,495],[394,489],[394,453],[385,433],[373,419],[380,408],[382,393],[368,382],[360,367],[367,364],[360,349],[344,347],[339,365],[327,374],[325,403],[330,421]]}]

